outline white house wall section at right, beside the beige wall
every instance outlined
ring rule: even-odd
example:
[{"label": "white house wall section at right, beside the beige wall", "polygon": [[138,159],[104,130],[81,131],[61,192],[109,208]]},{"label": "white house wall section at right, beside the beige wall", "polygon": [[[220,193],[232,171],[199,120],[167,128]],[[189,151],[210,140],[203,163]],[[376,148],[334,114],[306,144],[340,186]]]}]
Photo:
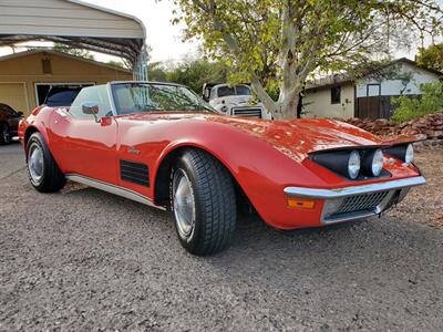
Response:
[{"label": "white house wall section at right, beside the beige wall", "polygon": [[368,94],[368,84],[380,84],[380,95],[418,95],[422,94],[420,90],[420,85],[423,83],[431,83],[439,81],[439,76],[429,71],[419,69],[412,64],[400,62],[395,64],[395,75],[394,76],[404,76],[410,81],[404,81],[403,84],[401,79],[383,79],[383,80],[374,80],[374,79],[364,79],[358,81],[356,83],[357,86],[357,97],[365,97],[378,94]]}]

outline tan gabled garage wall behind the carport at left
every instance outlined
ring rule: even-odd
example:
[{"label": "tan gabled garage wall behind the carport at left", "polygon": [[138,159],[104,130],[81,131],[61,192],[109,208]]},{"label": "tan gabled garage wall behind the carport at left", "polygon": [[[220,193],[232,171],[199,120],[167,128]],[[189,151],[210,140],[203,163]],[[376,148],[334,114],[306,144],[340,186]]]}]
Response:
[{"label": "tan gabled garage wall behind the carport at left", "polygon": [[[50,60],[50,74],[43,73],[44,58]],[[125,80],[132,80],[132,73],[52,52],[30,53],[0,61],[0,102],[27,114],[37,107],[37,83],[103,84]]]}]

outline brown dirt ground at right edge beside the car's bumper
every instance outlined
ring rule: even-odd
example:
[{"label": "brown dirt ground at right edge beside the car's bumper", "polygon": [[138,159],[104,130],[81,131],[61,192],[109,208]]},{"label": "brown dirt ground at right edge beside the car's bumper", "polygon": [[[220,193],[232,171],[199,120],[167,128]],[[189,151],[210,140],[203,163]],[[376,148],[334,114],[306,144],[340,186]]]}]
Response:
[{"label": "brown dirt ground at right edge beside the car's bumper", "polygon": [[412,189],[388,215],[443,228],[443,148],[418,148],[415,164],[424,174],[426,185]]}]

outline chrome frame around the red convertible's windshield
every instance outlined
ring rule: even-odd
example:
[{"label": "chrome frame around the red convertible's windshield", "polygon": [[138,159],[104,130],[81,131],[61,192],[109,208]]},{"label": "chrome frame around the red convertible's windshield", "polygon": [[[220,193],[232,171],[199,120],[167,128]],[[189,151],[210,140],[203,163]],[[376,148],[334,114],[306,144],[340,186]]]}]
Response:
[{"label": "chrome frame around the red convertible's windshield", "polygon": [[[202,106],[202,110],[196,110],[192,111],[184,107],[183,110],[153,110],[153,111],[134,111],[131,113],[122,113],[119,112],[117,107],[117,96],[114,94],[115,86],[117,85],[125,85],[125,84],[142,84],[142,85],[154,85],[154,86],[173,86],[173,87],[181,87],[185,89],[187,93],[190,93],[196,101],[198,101],[198,105]],[[136,113],[144,113],[144,114],[158,114],[158,113],[193,113],[193,112],[209,112],[209,113],[216,113],[216,111],[204,100],[202,100],[194,91],[192,91],[189,87],[182,85],[182,84],[175,84],[175,83],[164,83],[164,82],[151,82],[151,81],[120,81],[120,82],[110,82],[106,84],[107,85],[107,92],[110,95],[110,101],[111,101],[111,107],[112,112],[114,115],[130,115],[130,114],[136,114]]]}]

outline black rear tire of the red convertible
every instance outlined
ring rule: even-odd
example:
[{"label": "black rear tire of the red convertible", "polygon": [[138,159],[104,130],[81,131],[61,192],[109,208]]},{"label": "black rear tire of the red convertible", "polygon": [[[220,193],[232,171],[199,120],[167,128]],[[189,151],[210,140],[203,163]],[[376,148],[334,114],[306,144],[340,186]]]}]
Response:
[{"label": "black rear tire of the red convertible", "polygon": [[[33,176],[31,154],[34,149],[42,153],[42,170],[41,177]],[[66,179],[60,170],[51,152],[40,133],[34,133],[27,144],[27,170],[32,186],[40,193],[55,193],[64,187]]]}]

